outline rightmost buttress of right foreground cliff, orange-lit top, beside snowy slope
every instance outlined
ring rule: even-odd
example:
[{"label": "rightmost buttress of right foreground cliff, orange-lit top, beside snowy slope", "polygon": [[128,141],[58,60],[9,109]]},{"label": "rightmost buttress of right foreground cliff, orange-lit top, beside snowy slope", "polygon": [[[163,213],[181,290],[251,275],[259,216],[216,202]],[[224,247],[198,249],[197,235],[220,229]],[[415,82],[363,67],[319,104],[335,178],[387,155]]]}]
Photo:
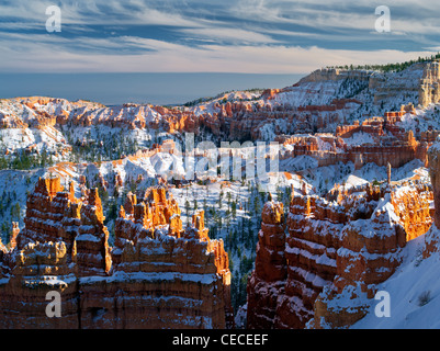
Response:
[{"label": "rightmost buttress of right foreground cliff, orange-lit top, beside snowy slope", "polygon": [[[379,200],[380,206],[369,219],[357,219],[343,227],[337,275],[316,299],[309,327],[345,328],[362,318],[369,310],[365,298],[373,298],[375,284],[395,272],[407,240],[429,228],[429,192],[424,186],[399,186],[391,194],[381,194],[384,201]],[[339,303],[339,296],[349,298],[346,301],[351,302],[350,306]]]}]

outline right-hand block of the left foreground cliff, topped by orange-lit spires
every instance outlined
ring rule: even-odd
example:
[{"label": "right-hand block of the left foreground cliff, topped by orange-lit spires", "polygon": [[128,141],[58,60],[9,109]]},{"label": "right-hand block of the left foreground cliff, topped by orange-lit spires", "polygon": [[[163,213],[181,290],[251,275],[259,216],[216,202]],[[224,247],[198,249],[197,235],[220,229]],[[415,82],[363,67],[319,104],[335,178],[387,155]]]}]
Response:
[{"label": "right-hand block of the left foreground cliff, topped by orange-lit spires", "polygon": [[[156,190],[151,194],[159,195]],[[110,324],[102,327],[119,328],[123,322],[125,328],[138,328],[145,316],[149,328],[230,326],[230,272],[223,241],[210,240],[200,220],[179,233],[180,237],[169,236],[166,224],[150,223],[148,214],[155,213],[155,208],[146,212],[144,202],[135,208],[143,208],[144,217],[137,211],[133,217],[121,212],[116,223],[115,268],[113,279],[105,283],[108,297],[97,298],[93,286],[83,287],[87,304],[82,308],[90,316],[82,324],[93,327],[92,312],[101,308],[103,321]],[[139,225],[139,219],[145,219],[146,225]],[[123,308],[113,307],[110,297],[114,294]],[[120,321],[114,315],[125,317]]]}]

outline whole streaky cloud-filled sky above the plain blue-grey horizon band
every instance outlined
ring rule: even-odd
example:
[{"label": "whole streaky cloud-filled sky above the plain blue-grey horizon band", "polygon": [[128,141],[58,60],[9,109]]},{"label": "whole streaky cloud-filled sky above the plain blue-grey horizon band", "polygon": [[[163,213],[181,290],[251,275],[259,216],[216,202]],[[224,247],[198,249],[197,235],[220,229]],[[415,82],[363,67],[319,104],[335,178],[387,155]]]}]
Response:
[{"label": "whole streaky cloud-filled sky above the plain blue-grey horizon band", "polygon": [[[432,0],[1,0],[1,72],[304,73],[440,49]],[[61,32],[46,31],[46,8]],[[375,8],[391,10],[379,33]]]}]

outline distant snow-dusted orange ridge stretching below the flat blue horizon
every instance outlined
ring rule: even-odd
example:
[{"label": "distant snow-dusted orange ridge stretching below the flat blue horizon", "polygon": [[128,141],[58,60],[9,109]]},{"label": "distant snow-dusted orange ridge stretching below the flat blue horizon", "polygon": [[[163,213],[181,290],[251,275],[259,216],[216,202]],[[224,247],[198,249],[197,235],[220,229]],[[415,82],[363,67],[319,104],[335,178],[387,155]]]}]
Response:
[{"label": "distant snow-dusted orange ridge stretching below the flat blue horizon", "polygon": [[[287,89],[289,90],[289,89]],[[201,105],[185,109],[168,109],[163,106],[124,104],[121,106],[105,107],[97,103],[76,102],[56,99],[19,99],[10,103],[25,105],[32,111],[32,118],[20,116],[0,115],[0,125],[4,127],[42,128],[55,124],[74,126],[106,125],[121,128],[151,128],[163,129],[168,133],[190,132],[199,134],[201,127],[208,128],[216,136],[242,139],[245,136],[261,137],[264,125],[274,120],[283,118],[287,124],[297,124],[301,128],[312,132],[315,126],[326,127],[327,123],[338,123],[339,109],[346,109],[346,103],[354,101],[334,101],[329,106],[308,106],[297,109],[292,105],[269,102],[278,94],[286,91],[267,90],[257,101],[219,101],[210,107]],[[53,105],[57,105],[57,113],[52,112]],[[304,110],[304,111],[303,111]],[[328,111],[334,113],[328,114]],[[325,113],[325,116],[320,114]],[[316,114],[315,118],[311,114]],[[318,121],[319,120],[319,121]],[[285,132],[284,132],[285,133]],[[281,134],[279,127],[275,134]]]}]

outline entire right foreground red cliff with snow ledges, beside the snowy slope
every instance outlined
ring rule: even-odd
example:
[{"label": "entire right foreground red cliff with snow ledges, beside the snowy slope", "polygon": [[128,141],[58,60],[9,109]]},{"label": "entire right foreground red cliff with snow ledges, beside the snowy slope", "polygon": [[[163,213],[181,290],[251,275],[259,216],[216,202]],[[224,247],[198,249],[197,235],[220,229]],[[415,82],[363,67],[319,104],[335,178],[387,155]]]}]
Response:
[{"label": "entire right foreground red cliff with snow ledges, beside the snowy slope", "polygon": [[[369,306],[361,297],[373,298],[375,284],[402,262],[406,242],[429,229],[432,192],[421,183],[361,188],[334,200],[292,197],[285,245],[261,250],[259,241],[248,281],[248,327],[343,328],[364,316]],[[263,219],[260,237],[266,233]],[[259,261],[280,272],[270,275],[274,281]]]}]

